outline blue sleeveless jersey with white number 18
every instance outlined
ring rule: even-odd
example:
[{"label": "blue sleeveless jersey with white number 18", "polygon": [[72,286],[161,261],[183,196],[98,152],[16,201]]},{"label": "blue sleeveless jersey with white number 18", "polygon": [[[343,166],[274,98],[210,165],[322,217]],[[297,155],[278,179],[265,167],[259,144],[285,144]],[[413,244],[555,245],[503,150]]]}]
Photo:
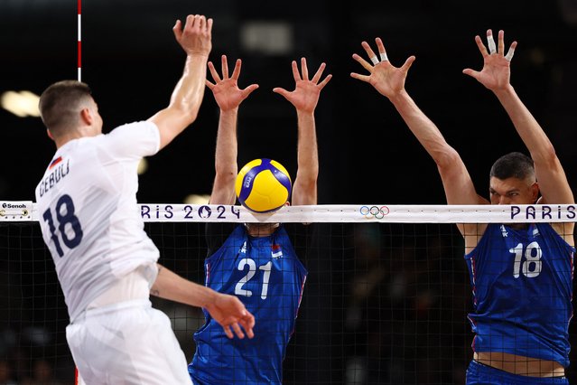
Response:
[{"label": "blue sleeveless jersey with white number 18", "polygon": [[548,223],[489,224],[465,256],[475,352],[506,352],[569,366],[574,248]]}]

